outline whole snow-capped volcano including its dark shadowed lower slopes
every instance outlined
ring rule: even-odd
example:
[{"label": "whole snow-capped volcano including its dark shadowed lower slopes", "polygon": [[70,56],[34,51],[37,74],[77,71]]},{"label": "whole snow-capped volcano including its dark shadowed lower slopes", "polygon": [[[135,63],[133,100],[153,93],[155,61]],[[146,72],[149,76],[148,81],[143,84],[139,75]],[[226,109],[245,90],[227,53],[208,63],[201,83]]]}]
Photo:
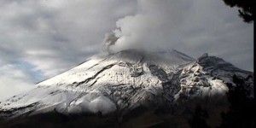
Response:
[{"label": "whole snow-capped volcano including its dark shadowed lower slopes", "polygon": [[[241,79],[253,97],[253,73],[207,54],[175,49],[95,55],[32,90],[0,102],[3,127],[189,127],[199,108],[218,126],[227,93]],[[191,124],[191,123],[190,123]]]}]

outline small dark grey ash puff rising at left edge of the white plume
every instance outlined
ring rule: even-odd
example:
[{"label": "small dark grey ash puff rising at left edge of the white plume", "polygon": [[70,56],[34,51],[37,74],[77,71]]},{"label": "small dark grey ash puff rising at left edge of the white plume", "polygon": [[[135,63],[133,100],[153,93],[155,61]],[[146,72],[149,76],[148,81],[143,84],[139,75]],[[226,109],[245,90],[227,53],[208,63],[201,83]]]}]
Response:
[{"label": "small dark grey ash puff rising at left edge of the white plume", "polygon": [[106,33],[104,41],[103,41],[103,48],[102,48],[102,50],[104,52],[107,51],[108,53],[111,53],[110,46],[116,44],[116,41],[118,39],[119,38],[117,38],[113,32]]}]

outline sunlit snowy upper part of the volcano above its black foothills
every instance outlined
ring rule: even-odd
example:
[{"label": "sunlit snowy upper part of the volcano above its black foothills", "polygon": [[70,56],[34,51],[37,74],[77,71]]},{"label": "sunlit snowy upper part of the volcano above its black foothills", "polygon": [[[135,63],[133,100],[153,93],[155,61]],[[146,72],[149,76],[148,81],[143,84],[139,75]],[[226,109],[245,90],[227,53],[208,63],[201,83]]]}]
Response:
[{"label": "sunlit snowy upper part of the volcano above its black foothills", "polygon": [[227,84],[234,84],[234,74],[253,87],[253,77],[248,78],[253,73],[207,54],[193,59],[174,49],[151,53],[130,49],[95,55],[26,93],[0,102],[0,117],[50,112],[114,114],[122,122],[123,116],[137,108],[186,113],[188,104],[195,107],[199,101],[215,113],[214,107],[224,111],[227,106],[223,102]]}]

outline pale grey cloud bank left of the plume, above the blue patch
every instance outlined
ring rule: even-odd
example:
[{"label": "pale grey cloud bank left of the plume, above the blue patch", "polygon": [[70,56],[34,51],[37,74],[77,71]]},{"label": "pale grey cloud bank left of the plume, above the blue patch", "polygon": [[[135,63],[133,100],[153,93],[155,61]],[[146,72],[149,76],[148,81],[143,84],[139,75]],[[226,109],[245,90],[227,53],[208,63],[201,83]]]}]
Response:
[{"label": "pale grey cloud bank left of the plume, above the blue patch", "polygon": [[[0,58],[27,61],[50,77],[102,49],[104,33],[132,14],[135,1],[3,1]],[[126,7],[128,5],[128,7]]]}]

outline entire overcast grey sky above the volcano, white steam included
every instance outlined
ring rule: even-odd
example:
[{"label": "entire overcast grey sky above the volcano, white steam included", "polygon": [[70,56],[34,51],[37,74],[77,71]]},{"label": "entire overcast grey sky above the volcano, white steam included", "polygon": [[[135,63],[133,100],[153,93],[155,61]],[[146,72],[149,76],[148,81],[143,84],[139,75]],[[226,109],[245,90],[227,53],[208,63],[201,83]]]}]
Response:
[{"label": "entire overcast grey sky above the volcano, white steam included", "polygon": [[253,24],[237,15],[222,0],[1,0],[0,100],[101,52],[107,32],[113,50],[207,52],[253,71]]}]

